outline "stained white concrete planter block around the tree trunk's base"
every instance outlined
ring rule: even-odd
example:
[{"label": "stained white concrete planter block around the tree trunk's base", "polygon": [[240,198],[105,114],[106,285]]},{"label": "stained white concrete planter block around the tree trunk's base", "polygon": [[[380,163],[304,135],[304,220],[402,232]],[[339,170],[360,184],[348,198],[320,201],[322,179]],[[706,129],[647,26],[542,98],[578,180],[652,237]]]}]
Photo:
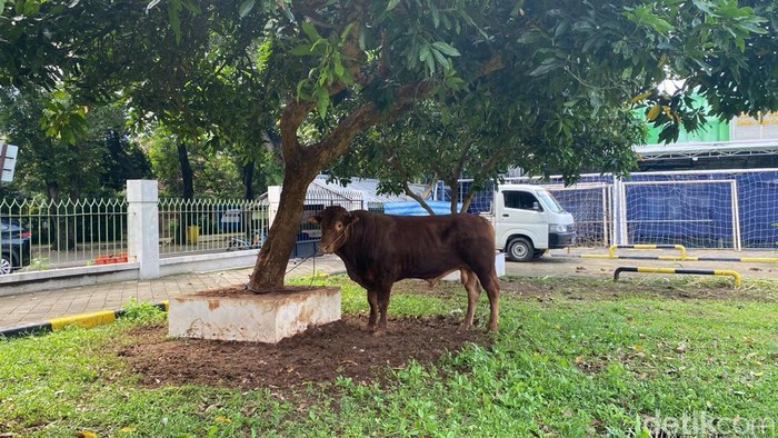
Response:
[{"label": "stained white concrete planter block around the tree trunk's base", "polygon": [[209,293],[170,299],[168,335],[276,344],[340,319],[340,288],[287,288],[263,295]]}]

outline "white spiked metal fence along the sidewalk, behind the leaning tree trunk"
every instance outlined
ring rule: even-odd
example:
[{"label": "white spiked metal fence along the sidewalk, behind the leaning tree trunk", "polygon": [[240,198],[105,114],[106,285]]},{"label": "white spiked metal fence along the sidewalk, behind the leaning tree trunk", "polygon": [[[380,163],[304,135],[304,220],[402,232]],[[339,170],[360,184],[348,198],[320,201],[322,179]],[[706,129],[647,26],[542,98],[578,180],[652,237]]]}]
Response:
[{"label": "white spiked metal fence along the sidewalk, behind the leaning tree trunk", "polygon": [[[333,205],[366,208],[360,193],[309,191],[291,257],[316,252],[321,231],[308,219]],[[3,258],[13,271],[22,272],[131,262],[129,206],[126,198],[0,200]],[[141,223],[134,232],[154,230],[161,259],[258,249],[277,208],[278,201],[267,196],[258,200],[159,199],[157,227]],[[29,245],[19,243],[24,239]]]}]

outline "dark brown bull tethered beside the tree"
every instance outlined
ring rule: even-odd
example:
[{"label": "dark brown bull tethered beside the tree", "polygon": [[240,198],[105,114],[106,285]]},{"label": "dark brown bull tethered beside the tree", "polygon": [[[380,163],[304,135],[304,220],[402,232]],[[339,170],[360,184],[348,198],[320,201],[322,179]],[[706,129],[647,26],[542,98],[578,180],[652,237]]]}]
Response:
[{"label": "dark brown bull tethered beside the tree", "polygon": [[460,270],[468,292],[461,328],[472,326],[480,281],[489,296],[488,329],[497,329],[500,286],[495,270],[495,231],[486,219],[475,215],[392,216],[335,206],[311,221],[321,226],[321,251],[338,255],[349,277],[367,289],[368,328],[376,335],[386,332],[389,295],[396,281],[435,281],[455,270]]}]

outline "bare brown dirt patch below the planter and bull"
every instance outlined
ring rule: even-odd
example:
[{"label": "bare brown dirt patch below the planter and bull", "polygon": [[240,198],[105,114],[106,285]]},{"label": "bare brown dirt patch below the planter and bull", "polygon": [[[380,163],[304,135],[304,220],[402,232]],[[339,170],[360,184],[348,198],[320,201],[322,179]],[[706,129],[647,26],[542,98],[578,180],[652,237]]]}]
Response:
[{"label": "bare brown dirt patch below the planter and bull", "polygon": [[290,389],[326,382],[337,376],[380,381],[389,368],[410,359],[422,364],[467,342],[487,345],[482,329],[458,331],[459,320],[443,317],[390,318],[388,332],[373,337],[366,316],[345,315],[340,321],[312,327],[276,345],[202,339],[169,339],[167,327],[136,329],[119,356],[142,376],[142,382],[202,384],[231,388]]}]

